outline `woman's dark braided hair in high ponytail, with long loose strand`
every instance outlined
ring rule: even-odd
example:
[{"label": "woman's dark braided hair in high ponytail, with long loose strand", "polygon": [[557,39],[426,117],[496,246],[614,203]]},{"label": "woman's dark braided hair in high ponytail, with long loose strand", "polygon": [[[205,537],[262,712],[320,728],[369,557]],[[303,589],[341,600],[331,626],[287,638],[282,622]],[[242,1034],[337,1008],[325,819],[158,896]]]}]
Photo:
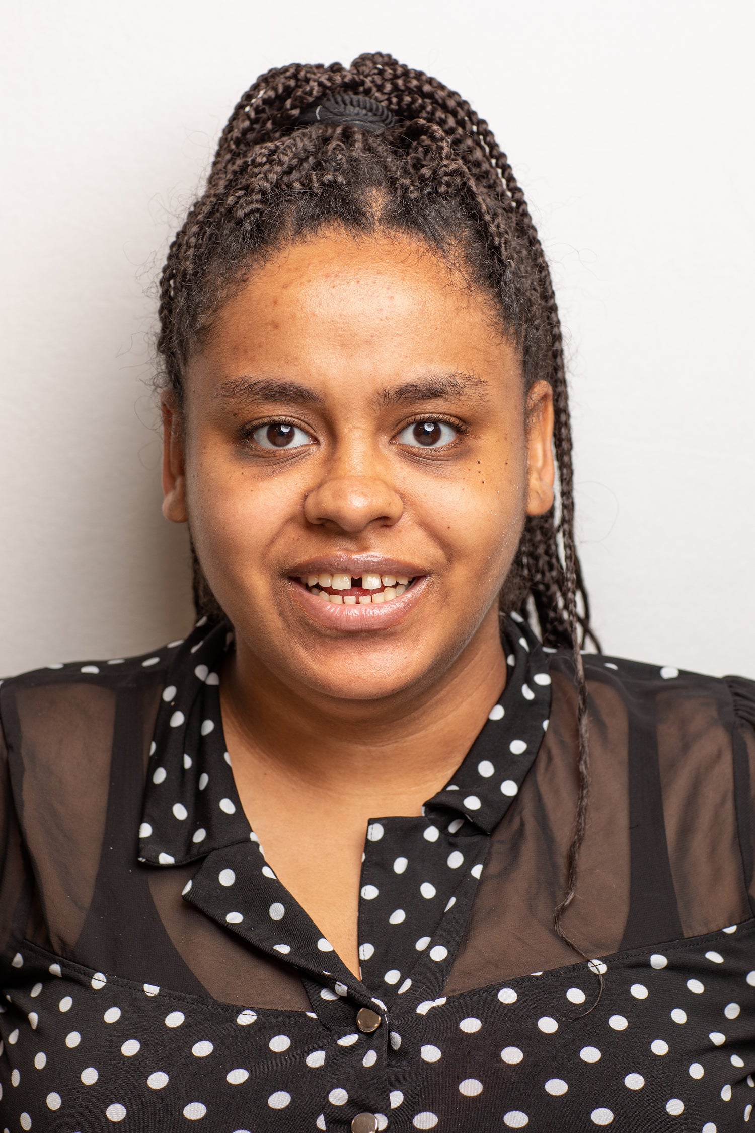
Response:
[{"label": "woman's dark braided hair in high ponytail, with long loose strand", "polygon": [[[182,404],[183,372],[223,301],[286,242],[341,225],[419,238],[495,304],[518,346],[525,389],[550,383],[559,517],[527,517],[501,591],[567,648],[575,668],[578,802],[559,936],[575,895],[587,813],[587,689],[581,650],[590,604],[574,543],[572,432],[561,332],[538,233],[506,154],[488,123],[437,79],[387,54],[269,70],[241,96],[221,135],[201,197],[170,247],[161,279],[161,383]],[[192,552],[194,553],[194,552]],[[200,613],[222,617],[194,556]]]}]

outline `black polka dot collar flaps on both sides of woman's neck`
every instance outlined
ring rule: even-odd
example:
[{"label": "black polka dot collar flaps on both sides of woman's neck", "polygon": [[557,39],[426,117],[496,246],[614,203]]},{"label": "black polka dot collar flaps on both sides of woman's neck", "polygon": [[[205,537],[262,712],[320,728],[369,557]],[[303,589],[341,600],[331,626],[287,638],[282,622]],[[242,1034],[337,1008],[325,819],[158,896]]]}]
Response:
[{"label": "black polka dot collar flaps on both sides of woman's neck", "polygon": [[[225,748],[220,668],[233,633],[197,622],[168,671],[149,750],[139,860],[185,864],[213,850],[257,842]],[[507,680],[482,731],[424,812],[455,811],[490,834],[516,796],[548,727],[550,675],[534,633],[516,614],[504,627]]]}]

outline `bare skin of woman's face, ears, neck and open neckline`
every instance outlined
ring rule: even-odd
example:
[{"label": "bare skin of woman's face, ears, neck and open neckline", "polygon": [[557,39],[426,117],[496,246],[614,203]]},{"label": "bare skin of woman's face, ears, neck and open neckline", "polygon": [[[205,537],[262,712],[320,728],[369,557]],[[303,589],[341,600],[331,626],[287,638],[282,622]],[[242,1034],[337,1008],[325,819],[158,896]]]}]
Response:
[{"label": "bare skin of woman's face, ears, neck and open neckline", "polygon": [[[254,272],[163,419],[163,511],[235,628],[241,803],[358,974],[369,819],[421,813],[505,684],[498,591],[554,501],[550,386],[525,397],[489,298],[422,245],[335,231]],[[337,604],[315,574],[413,581]]]}]

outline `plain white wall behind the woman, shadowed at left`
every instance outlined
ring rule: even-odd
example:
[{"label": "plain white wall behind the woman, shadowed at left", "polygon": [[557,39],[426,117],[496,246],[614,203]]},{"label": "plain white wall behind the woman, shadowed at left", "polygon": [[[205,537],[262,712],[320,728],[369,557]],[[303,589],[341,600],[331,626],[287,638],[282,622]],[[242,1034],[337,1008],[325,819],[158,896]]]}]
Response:
[{"label": "plain white wall behind the woman, shadowed at left", "polygon": [[532,202],[604,647],[755,676],[754,23],[748,0],[6,8],[0,672],[185,632],[148,287],[248,83],[383,50],[470,99]]}]

